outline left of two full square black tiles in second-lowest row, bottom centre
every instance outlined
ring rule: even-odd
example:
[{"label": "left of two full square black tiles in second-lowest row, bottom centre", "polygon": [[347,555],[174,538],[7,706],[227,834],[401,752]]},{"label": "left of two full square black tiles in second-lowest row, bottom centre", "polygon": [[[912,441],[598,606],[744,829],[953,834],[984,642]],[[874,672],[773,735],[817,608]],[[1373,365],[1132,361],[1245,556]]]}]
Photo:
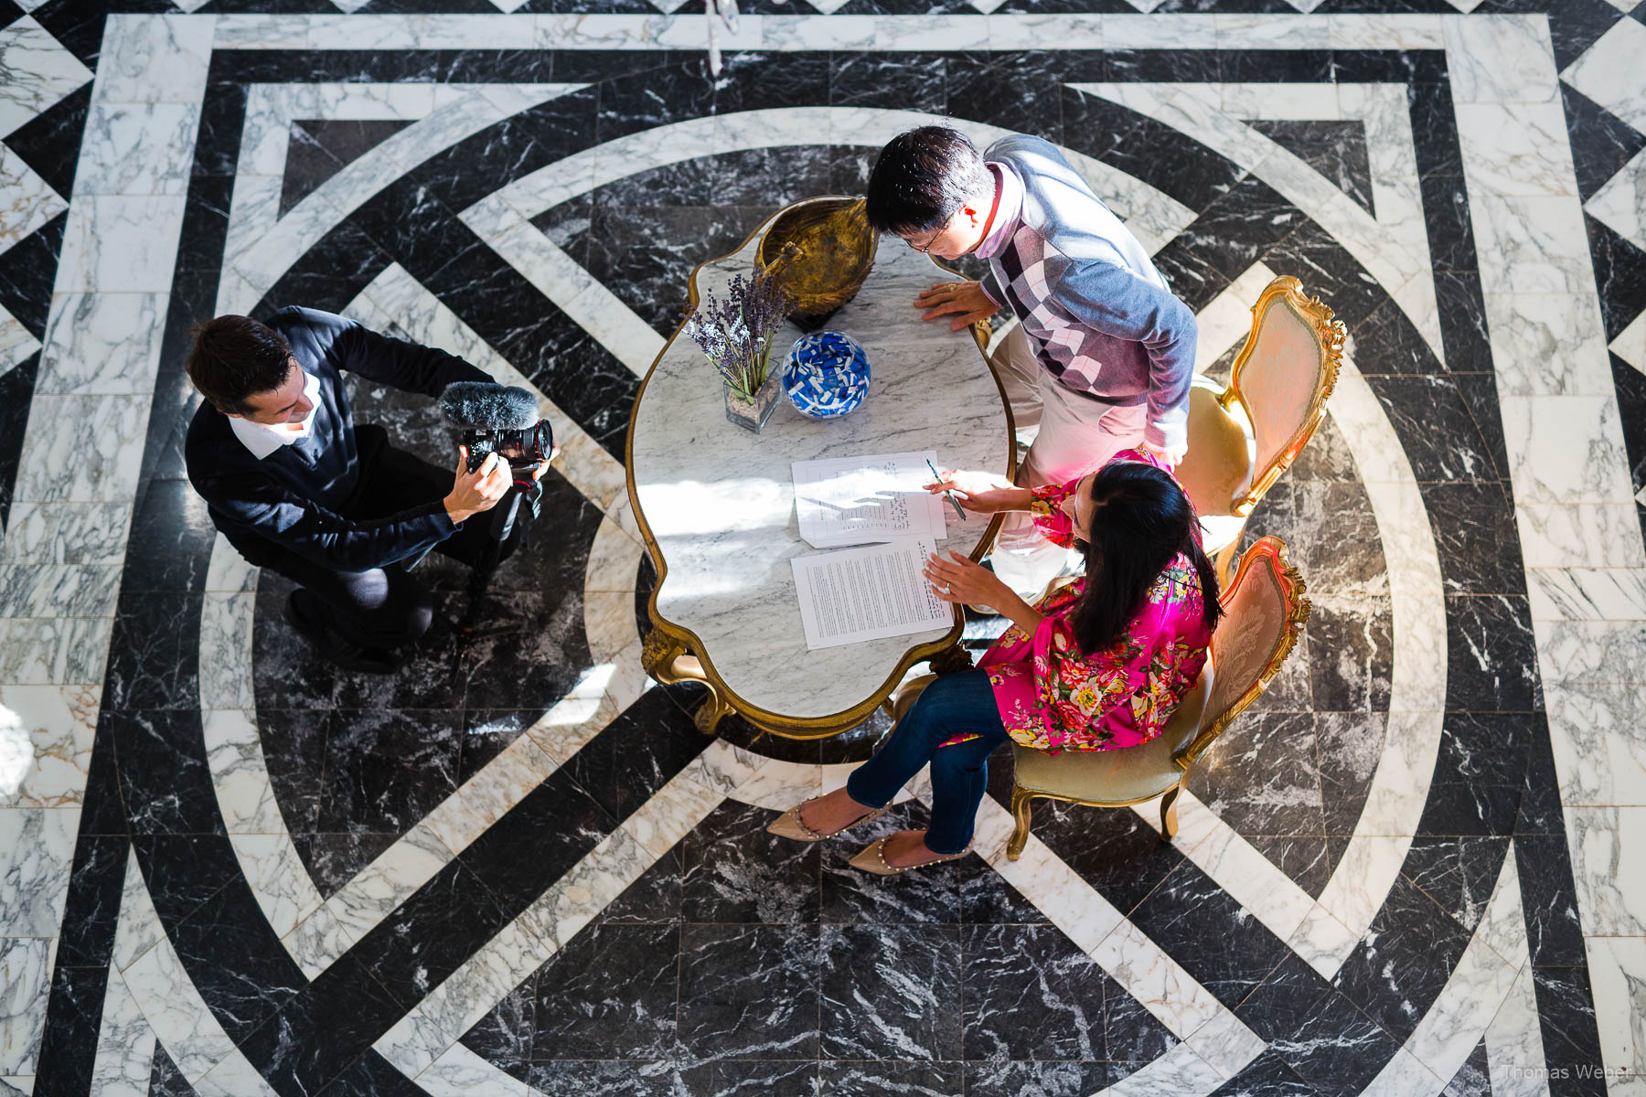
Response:
[{"label": "left of two full square black tiles in second-lowest row, bottom centre", "polygon": [[818,1054],[816,926],[686,924],[680,933],[680,1043],[686,1056]]}]

